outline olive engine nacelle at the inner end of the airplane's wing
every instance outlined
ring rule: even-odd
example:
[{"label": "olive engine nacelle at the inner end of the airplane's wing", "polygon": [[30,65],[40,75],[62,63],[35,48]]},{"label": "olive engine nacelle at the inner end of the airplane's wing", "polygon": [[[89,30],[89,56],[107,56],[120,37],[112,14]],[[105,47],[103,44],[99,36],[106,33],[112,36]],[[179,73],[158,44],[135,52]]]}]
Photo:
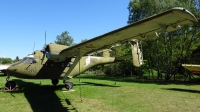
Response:
[{"label": "olive engine nacelle at the inner end of the airplane's wing", "polygon": [[50,60],[59,61],[59,53],[68,48],[66,45],[59,45],[55,43],[48,44],[45,48],[46,57]]}]

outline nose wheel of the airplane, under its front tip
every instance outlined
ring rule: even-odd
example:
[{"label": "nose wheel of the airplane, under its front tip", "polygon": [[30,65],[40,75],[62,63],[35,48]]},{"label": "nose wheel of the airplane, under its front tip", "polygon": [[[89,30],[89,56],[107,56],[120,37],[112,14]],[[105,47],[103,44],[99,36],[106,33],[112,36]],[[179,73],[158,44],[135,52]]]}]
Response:
[{"label": "nose wheel of the airplane, under its front tip", "polygon": [[4,87],[4,91],[17,91],[18,88],[16,87],[16,83],[15,81],[9,81],[10,77],[7,76],[6,78],[6,84],[5,84],[5,87]]}]

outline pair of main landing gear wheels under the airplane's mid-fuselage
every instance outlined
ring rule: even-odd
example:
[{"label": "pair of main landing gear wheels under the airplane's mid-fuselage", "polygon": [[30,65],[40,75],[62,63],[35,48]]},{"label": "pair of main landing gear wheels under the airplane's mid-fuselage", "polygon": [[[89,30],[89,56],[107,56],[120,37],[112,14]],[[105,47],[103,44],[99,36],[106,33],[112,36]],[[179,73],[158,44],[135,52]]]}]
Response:
[{"label": "pair of main landing gear wheels under the airplane's mid-fuselage", "polygon": [[[58,79],[51,79],[51,83],[56,86],[58,84],[59,80]],[[66,81],[64,80],[63,81],[64,85],[65,85],[65,88],[70,91],[72,88],[73,88],[73,83],[72,82],[69,82],[69,81]]]}]

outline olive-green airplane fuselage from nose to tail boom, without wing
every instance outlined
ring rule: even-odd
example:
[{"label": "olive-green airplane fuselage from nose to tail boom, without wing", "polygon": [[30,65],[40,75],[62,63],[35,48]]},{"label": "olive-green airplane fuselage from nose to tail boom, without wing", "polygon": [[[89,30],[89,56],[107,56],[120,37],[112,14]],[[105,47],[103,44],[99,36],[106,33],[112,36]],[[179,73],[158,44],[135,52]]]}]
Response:
[{"label": "olive-green airplane fuselage from nose to tail boom, without wing", "polygon": [[[7,73],[9,76],[26,79],[63,79],[69,67],[73,64],[74,58],[62,62],[55,62],[43,58],[43,53],[35,51],[34,54],[25,57],[23,60],[12,64]],[[113,57],[83,56],[73,71],[68,75],[72,78],[87,69],[105,63],[114,62]]]}]

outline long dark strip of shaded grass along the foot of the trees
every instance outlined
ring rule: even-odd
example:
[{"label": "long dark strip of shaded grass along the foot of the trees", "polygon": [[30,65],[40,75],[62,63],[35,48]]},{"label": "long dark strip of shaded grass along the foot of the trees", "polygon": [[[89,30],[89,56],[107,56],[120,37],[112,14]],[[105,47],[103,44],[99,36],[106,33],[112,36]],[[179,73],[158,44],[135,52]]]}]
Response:
[{"label": "long dark strip of shaded grass along the foot of the trees", "polygon": [[200,79],[195,79],[192,81],[165,81],[165,80],[156,80],[156,79],[137,79],[132,77],[109,77],[109,76],[90,76],[90,75],[81,75],[81,78],[85,79],[95,79],[95,80],[108,80],[116,82],[129,82],[129,83],[143,83],[143,84],[158,84],[158,85],[168,85],[168,84],[178,84],[178,85],[199,85]]}]

